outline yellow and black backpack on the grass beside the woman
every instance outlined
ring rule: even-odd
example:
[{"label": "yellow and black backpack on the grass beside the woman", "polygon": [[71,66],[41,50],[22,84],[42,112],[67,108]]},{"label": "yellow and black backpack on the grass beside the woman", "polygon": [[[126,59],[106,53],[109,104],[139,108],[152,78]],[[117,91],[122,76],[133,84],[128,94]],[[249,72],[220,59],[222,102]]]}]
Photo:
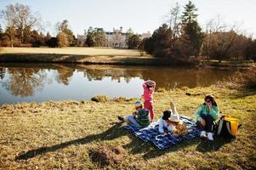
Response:
[{"label": "yellow and black backpack on the grass beside the woman", "polygon": [[238,119],[231,116],[221,116],[217,123],[216,133],[218,136],[224,138],[236,138],[238,128],[241,125],[238,124]]}]

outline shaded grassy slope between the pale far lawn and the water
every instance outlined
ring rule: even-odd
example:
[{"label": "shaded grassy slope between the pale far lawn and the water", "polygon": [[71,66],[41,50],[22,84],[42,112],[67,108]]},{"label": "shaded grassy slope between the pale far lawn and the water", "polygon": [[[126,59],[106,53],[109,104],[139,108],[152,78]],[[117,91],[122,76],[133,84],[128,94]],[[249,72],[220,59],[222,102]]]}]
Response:
[{"label": "shaded grassy slope between the pale far lawn and the water", "polygon": [[253,62],[241,61],[202,61],[194,65],[177,63],[172,59],[154,58],[151,56],[129,55],[85,55],[85,54],[26,54],[26,53],[0,53],[0,63],[52,63],[75,65],[156,65],[156,66],[191,66],[191,67],[254,67]]}]

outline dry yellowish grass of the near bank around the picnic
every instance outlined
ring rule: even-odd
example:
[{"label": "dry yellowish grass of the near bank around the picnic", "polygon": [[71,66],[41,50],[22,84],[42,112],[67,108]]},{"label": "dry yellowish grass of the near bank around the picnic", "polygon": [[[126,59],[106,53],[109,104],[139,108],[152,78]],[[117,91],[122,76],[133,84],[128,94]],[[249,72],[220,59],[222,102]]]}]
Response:
[{"label": "dry yellowish grass of the near bank around the picnic", "polygon": [[[242,123],[236,139],[215,139],[206,150],[202,150],[198,138],[156,150],[123,129],[117,116],[132,112],[137,99],[3,105],[0,169],[99,169],[100,165],[113,169],[254,169],[255,92],[223,87],[159,89],[154,99],[156,117],[169,108],[170,100],[180,114],[193,116],[205,94],[216,97],[222,114],[236,116]],[[117,146],[122,152],[116,165],[102,165],[90,154],[101,147],[110,151]]]}]

